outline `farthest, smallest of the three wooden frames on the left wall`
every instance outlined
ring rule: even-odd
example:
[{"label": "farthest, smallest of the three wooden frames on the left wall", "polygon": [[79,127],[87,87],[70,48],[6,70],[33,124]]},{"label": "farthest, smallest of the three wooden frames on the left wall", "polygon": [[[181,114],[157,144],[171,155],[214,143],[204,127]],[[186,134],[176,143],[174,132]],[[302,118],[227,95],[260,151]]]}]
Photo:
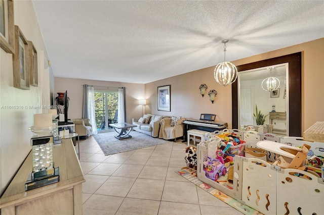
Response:
[{"label": "farthest, smallest of the three wooden frames on the left wall", "polygon": [[38,69],[37,69],[37,50],[32,43],[28,42],[28,60],[29,60],[29,84],[38,86]]}]

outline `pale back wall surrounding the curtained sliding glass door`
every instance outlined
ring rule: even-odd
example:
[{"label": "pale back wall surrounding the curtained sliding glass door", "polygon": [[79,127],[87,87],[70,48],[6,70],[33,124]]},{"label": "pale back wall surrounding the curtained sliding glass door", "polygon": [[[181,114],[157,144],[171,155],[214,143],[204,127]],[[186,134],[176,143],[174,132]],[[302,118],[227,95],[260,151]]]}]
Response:
[{"label": "pale back wall surrounding the curtained sliding glass door", "polygon": [[[68,110],[69,119],[82,118],[84,84],[95,85],[95,90],[107,89],[96,86],[126,87],[126,121],[131,123],[132,118],[139,118],[142,115],[142,105],[138,104],[138,99],[144,98],[144,84],[55,77],[54,97],[57,96],[57,92],[65,92],[67,90],[68,97],[70,98]],[[116,88],[112,89],[116,90]]]}]

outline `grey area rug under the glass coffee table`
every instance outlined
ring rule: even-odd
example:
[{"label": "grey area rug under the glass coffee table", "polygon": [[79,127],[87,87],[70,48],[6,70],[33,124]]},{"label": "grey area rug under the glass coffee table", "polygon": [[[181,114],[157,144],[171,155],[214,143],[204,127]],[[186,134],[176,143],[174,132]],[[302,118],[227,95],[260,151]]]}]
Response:
[{"label": "grey area rug under the glass coffee table", "polygon": [[137,131],[132,131],[132,138],[118,140],[115,131],[93,135],[105,155],[168,143],[168,140],[153,138]]}]

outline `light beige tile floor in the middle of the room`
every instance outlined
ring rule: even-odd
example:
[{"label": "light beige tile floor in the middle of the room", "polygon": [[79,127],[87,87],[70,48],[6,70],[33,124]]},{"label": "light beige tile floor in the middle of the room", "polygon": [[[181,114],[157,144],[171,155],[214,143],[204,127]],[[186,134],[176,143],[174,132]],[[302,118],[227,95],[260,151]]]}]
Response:
[{"label": "light beige tile floor in the middle of the room", "polygon": [[83,214],[242,214],[175,173],[186,166],[185,147],[178,140],[105,156],[93,137],[80,140]]}]

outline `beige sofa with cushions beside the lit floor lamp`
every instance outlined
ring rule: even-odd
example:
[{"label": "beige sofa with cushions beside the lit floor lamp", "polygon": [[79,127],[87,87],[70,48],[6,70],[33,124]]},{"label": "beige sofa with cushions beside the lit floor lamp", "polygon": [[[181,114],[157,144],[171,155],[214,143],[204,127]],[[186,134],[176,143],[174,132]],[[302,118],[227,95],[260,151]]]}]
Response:
[{"label": "beige sofa with cushions beside the lit floor lamp", "polygon": [[133,118],[132,124],[136,125],[136,127],[133,129],[135,131],[150,135],[152,137],[158,137],[158,131],[160,129],[160,121],[166,116],[151,115],[151,114],[146,114],[144,116],[150,116],[148,122],[146,123],[139,122],[140,118]]}]

